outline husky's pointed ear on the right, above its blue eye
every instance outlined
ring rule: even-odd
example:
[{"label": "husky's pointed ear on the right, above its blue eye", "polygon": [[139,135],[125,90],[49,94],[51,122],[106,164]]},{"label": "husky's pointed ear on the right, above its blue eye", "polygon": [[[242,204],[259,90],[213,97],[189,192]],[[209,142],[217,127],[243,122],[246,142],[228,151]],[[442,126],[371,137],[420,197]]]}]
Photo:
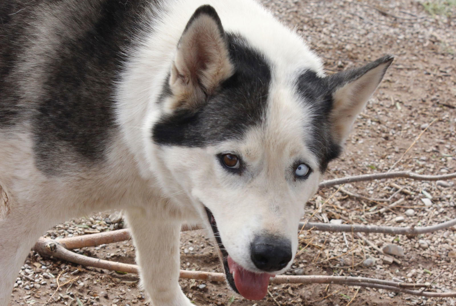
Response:
[{"label": "husky's pointed ear on the right, above its blue eye", "polygon": [[329,76],[333,88],[331,110],[333,139],[341,144],[352,124],[377,88],[394,57],[386,55],[364,67]]}]

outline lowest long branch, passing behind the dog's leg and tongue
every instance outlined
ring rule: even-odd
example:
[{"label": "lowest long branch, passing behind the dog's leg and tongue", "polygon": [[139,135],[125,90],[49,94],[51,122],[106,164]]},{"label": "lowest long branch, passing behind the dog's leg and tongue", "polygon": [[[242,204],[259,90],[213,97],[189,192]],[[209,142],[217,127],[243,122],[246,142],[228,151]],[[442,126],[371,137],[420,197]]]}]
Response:
[{"label": "lowest long branch, passing behind the dog's leg and tongue", "polygon": [[[88,256],[76,254],[70,250],[65,249],[58,241],[53,239],[40,239],[34,248],[38,253],[48,256],[54,256],[74,262],[79,265],[92,266],[100,269],[114,270],[126,273],[138,273],[139,268],[137,265],[123,264],[104,259],[96,259]],[[181,278],[206,280],[206,281],[225,281],[223,273],[213,273],[204,271],[180,271]],[[269,280],[272,284],[340,284],[340,285],[356,285],[363,287],[383,286],[383,289],[392,291],[402,291],[420,296],[442,296],[442,297],[456,297],[456,292],[420,292],[409,290],[405,288],[425,288],[429,284],[404,284],[391,280],[378,280],[367,277],[352,277],[352,276],[324,276],[324,275],[278,275]]]}]

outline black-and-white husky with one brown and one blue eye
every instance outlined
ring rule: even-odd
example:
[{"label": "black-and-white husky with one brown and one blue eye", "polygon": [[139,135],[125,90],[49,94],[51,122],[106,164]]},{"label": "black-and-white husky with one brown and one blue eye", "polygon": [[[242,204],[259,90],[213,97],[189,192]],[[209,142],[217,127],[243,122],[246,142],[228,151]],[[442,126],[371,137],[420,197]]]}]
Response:
[{"label": "black-and-white husky with one brown and one blue eye", "polygon": [[0,306],[53,224],[124,209],[153,305],[178,285],[182,223],[262,299],[392,56],[327,76],[252,0],[2,0]]}]

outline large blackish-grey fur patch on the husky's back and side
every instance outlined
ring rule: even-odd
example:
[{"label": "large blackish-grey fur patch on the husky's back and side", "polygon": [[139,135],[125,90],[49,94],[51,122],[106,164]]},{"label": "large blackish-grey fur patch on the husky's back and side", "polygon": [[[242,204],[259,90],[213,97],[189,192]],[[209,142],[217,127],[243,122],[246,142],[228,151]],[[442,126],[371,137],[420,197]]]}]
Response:
[{"label": "large blackish-grey fur patch on the husky's back and side", "polygon": [[41,171],[105,158],[118,132],[114,83],[145,10],[145,1],[127,3],[0,4],[0,135],[30,128]]}]

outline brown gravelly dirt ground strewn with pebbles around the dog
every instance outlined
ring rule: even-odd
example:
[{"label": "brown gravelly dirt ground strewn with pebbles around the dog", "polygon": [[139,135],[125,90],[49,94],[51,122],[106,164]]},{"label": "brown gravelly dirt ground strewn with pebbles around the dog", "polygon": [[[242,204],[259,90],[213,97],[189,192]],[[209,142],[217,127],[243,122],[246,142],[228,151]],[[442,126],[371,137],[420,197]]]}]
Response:
[{"label": "brown gravelly dirt ground strewn with pebbles around the dog", "polygon": [[[296,27],[324,59],[328,73],[359,67],[386,53],[396,56],[357,119],[342,158],[330,164],[326,179],[383,172],[392,167],[421,174],[456,172],[456,6],[438,10],[438,5],[423,5],[415,0],[263,2],[280,20]],[[398,185],[404,187],[401,192],[396,192]],[[425,226],[456,218],[455,180],[390,179],[346,184],[336,190],[321,190],[306,204],[307,217],[319,208],[311,221],[328,222],[334,218],[344,223]],[[403,202],[385,213],[370,213],[401,198]],[[48,231],[46,236],[67,237],[122,227],[122,222],[108,216],[104,213],[72,220]],[[403,217],[403,221],[397,217]],[[383,234],[364,237],[379,248],[387,244],[400,246],[405,256],[393,256],[400,264],[389,264],[383,255],[351,233],[303,231],[299,254],[288,273],[432,282],[429,290],[456,291],[455,227],[414,238]],[[204,232],[183,232],[181,246],[182,269],[221,272],[217,253]],[[124,263],[135,260],[129,241],[78,251]],[[372,259],[372,265],[364,265],[366,259]],[[61,284],[68,283],[56,291],[58,275]],[[456,305],[455,298],[425,298],[342,285],[270,285],[270,294],[257,302],[234,295],[224,283],[181,280],[181,286],[200,306]],[[80,267],[41,258],[33,252],[18,275],[11,300],[11,306],[26,304],[148,305],[137,275]]]}]

